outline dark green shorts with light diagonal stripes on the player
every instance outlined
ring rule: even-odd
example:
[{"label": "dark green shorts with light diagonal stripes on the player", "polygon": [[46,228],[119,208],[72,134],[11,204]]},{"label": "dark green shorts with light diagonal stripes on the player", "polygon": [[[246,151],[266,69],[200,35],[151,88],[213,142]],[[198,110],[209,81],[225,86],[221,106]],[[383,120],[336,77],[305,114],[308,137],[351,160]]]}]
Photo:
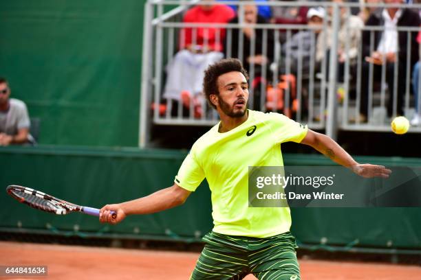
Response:
[{"label": "dark green shorts with light diagonal stripes on the player", "polygon": [[210,232],[197,260],[191,280],[243,279],[299,280],[295,238],[290,232],[267,238],[224,235]]}]

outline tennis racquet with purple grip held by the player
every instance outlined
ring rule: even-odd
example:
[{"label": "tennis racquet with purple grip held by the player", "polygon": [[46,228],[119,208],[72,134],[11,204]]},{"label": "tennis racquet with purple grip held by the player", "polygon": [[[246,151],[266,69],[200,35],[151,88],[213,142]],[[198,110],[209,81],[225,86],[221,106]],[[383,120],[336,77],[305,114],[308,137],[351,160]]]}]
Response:
[{"label": "tennis racquet with purple grip held by the player", "polygon": [[[30,189],[29,187],[10,185],[6,188],[6,191],[10,196],[12,196],[12,198],[41,211],[57,215],[66,215],[71,212],[82,212],[87,215],[99,216],[99,209],[75,205],[65,200],[54,198],[54,196],[50,196],[49,194],[44,194],[42,191]],[[115,219],[117,214],[113,212],[114,211],[111,211],[112,218]]]}]

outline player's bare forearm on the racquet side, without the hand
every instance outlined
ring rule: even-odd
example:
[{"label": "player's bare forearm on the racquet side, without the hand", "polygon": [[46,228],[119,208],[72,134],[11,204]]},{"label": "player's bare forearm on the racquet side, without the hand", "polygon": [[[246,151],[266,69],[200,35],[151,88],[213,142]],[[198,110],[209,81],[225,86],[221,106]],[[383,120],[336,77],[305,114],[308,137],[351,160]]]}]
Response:
[{"label": "player's bare forearm on the racquet side, without the hand", "polygon": [[149,196],[123,202],[120,204],[126,215],[142,215],[160,212],[182,205],[186,198],[175,191],[173,187],[161,189]]}]

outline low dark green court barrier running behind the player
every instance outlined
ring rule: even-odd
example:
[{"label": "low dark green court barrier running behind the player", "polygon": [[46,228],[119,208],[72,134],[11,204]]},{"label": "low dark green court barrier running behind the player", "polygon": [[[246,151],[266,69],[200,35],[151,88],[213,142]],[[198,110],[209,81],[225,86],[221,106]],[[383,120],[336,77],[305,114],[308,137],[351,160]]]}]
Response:
[{"label": "low dark green court barrier running behind the player", "polygon": [[[186,152],[135,148],[0,148],[0,186],[39,189],[80,205],[102,207],[173,184]],[[384,165],[420,166],[421,159],[360,157]],[[285,165],[330,165],[319,155],[285,154]],[[0,195],[0,231],[117,236],[193,241],[212,228],[206,183],[181,207],[130,216],[117,226],[72,213],[52,215]],[[301,244],[421,250],[421,209],[292,209],[292,231]],[[332,247],[334,248],[334,247]]]}]

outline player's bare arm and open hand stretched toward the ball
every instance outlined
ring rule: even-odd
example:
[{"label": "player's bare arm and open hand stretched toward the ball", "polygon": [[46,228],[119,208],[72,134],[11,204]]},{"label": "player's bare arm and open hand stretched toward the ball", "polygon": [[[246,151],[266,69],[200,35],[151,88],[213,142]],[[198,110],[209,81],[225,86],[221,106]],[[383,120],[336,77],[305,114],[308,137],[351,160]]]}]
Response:
[{"label": "player's bare arm and open hand stretched toward the ball", "polygon": [[314,132],[313,130],[308,130],[307,135],[305,135],[301,143],[312,146],[314,149],[332,159],[335,163],[343,165],[351,169],[354,173],[365,178],[387,178],[389,177],[389,174],[391,174],[391,170],[388,170],[382,165],[357,163],[354,159],[352,159],[352,156],[343,150],[343,148],[332,138],[327,135]]}]

